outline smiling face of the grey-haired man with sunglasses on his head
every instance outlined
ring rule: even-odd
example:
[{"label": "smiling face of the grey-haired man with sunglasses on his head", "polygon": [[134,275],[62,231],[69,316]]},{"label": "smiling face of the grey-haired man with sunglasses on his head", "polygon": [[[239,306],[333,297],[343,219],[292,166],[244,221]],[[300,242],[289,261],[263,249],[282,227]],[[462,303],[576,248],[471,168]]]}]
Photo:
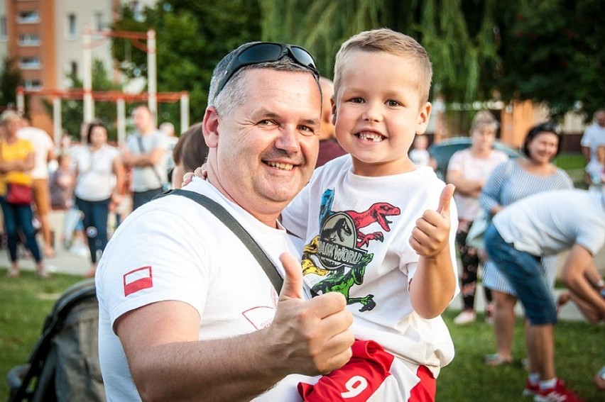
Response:
[{"label": "smiling face of the grey-haired man with sunglasses on his head", "polygon": [[[319,147],[321,99],[312,74],[250,69],[246,96],[221,116],[209,164],[217,188],[252,213],[279,213],[309,181]],[[210,136],[212,138],[212,135]]]}]

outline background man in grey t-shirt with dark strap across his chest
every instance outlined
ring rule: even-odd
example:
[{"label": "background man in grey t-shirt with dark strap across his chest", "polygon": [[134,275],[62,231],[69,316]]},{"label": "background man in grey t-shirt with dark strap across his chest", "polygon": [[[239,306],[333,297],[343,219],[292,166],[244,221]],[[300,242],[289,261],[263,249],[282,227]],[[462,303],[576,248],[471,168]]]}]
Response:
[{"label": "background man in grey t-shirt with dark strap across his chest", "polygon": [[162,193],[166,182],[165,153],[168,138],[156,130],[153,114],[147,106],[137,106],[132,112],[136,133],[126,140],[122,160],[132,168],[133,211]]}]

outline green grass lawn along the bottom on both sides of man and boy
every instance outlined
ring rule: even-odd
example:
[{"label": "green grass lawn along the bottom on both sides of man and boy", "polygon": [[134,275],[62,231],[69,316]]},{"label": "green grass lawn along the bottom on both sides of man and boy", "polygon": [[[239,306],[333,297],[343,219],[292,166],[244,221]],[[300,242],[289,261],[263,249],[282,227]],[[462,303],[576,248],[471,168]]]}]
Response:
[{"label": "green grass lawn along the bottom on both sides of man and boy", "polygon": [[[9,396],[6,374],[27,361],[54,301],[80,280],[81,277],[55,274],[45,281],[32,272],[6,279],[6,269],[0,269],[0,401],[6,401]],[[495,350],[492,327],[483,323],[481,316],[472,325],[454,325],[452,320],[456,314],[456,311],[444,314],[454,339],[456,357],[442,369],[437,381],[437,401],[530,401],[520,396],[526,378],[520,365],[520,359],[525,357],[521,321],[516,325],[516,364],[487,367],[483,363],[484,354]],[[592,376],[605,364],[604,333],[603,325],[559,323],[556,326],[558,374],[587,401],[603,401],[605,397],[605,393],[597,391],[592,384]]]}]

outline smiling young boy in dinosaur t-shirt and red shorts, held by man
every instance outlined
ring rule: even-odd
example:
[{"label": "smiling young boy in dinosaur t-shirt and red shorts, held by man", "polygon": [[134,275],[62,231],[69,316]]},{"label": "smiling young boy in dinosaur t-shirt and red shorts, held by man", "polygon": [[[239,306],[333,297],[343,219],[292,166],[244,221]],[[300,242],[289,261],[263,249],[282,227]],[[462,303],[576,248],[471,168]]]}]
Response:
[{"label": "smiling young boy in dinosaur t-shirt and red shorts, held by man", "polygon": [[[454,357],[440,317],[458,291],[454,187],[408,157],[429,121],[431,76],[425,49],[393,30],[354,35],[336,56],[332,113],[350,155],[315,170],[283,225],[304,240],[310,294],[344,294],[357,339],[388,353],[368,359],[375,342],[356,345],[351,372],[301,384],[305,401],[434,400],[435,378]],[[357,371],[355,359],[378,373]]]}]

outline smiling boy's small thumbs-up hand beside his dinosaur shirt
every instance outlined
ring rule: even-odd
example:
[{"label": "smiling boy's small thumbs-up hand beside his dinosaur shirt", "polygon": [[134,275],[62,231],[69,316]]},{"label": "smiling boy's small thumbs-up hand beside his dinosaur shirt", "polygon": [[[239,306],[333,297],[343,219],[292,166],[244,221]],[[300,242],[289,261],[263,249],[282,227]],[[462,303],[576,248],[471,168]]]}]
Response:
[{"label": "smiling boy's small thumbs-up hand beside his dinosaur shirt", "polygon": [[449,203],[454,195],[454,185],[447,184],[443,189],[437,211],[427,210],[422,218],[416,220],[416,227],[410,236],[410,245],[423,257],[435,257],[445,249],[449,242]]}]

